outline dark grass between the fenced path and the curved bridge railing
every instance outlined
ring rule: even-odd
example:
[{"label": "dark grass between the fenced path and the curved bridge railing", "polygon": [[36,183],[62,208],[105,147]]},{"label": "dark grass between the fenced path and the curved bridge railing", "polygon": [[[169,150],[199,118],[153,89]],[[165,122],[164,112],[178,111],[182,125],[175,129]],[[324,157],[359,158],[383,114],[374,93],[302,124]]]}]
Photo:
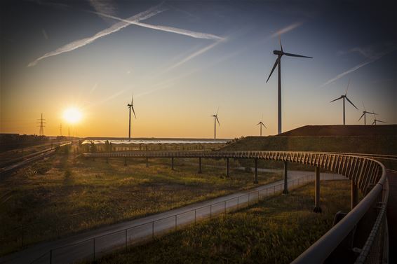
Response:
[{"label": "dark grass between the fenced path and the curved bridge railing", "polygon": [[349,211],[349,181],[321,184],[322,214],[312,212],[308,184],[95,263],[290,263],[332,227],[337,211]]}]

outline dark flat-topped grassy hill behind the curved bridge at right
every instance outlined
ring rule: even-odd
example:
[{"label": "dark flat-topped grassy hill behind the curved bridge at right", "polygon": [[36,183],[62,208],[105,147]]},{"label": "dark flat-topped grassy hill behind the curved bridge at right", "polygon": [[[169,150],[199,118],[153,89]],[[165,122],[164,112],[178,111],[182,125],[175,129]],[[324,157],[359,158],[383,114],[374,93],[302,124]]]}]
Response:
[{"label": "dark flat-topped grassy hill behind the curved bridge at right", "polygon": [[[304,126],[278,136],[235,139],[221,151],[319,151],[397,155],[396,129],[397,125]],[[382,162],[386,167],[396,167],[389,161]],[[253,165],[252,160],[240,160],[240,163],[244,167]],[[260,166],[277,168],[282,163],[261,160]]]}]

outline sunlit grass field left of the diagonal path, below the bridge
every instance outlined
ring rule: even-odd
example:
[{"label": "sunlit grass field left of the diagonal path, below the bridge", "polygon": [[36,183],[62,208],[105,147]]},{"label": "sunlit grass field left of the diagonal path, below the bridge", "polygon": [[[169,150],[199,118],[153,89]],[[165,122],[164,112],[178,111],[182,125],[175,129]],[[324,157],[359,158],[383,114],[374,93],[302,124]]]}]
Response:
[{"label": "sunlit grass field left of the diagonal path, below the bridge", "polygon": [[[233,170],[224,160],[75,158],[57,154],[0,181],[0,254],[23,244],[55,239],[100,225],[166,211],[191,202],[253,187],[253,173]],[[261,173],[261,184],[281,179]]]}]

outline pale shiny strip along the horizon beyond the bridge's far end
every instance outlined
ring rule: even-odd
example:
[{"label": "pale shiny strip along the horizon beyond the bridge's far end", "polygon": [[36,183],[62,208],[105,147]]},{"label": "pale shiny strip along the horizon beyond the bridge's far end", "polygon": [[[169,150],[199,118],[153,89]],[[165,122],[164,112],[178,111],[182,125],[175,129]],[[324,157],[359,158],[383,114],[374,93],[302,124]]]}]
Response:
[{"label": "pale shiny strip along the horizon beyond the bridge's far end", "polygon": [[[105,144],[105,139],[84,140],[82,144]],[[227,140],[195,140],[195,139],[131,139],[120,140],[110,139],[109,143],[112,144],[226,144]]]}]

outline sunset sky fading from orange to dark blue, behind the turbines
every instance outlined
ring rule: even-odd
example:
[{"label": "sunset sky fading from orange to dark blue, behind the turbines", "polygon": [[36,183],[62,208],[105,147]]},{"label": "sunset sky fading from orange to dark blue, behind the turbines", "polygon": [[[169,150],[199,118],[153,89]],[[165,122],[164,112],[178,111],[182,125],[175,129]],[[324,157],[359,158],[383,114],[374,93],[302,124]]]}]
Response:
[{"label": "sunset sky fading from orange to dark blue, behind the turbines", "polygon": [[[1,1],[1,133],[128,137],[277,134],[397,123],[396,1]],[[64,112],[81,112],[68,123]],[[373,116],[367,116],[372,123]]]}]

